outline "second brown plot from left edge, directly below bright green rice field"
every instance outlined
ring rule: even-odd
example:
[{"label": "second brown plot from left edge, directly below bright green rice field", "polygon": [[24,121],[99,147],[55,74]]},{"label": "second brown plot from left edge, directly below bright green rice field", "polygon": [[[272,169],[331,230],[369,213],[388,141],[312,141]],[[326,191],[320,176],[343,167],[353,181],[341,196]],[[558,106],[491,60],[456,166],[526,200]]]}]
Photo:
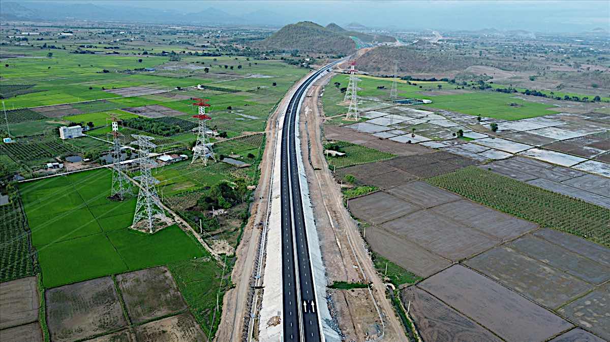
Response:
[{"label": "second brown plot from left edge, directly below bright green rice field", "polygon": [[76,341],[127,326],[111,277],[52,288],[45,298],[52,341]]}]

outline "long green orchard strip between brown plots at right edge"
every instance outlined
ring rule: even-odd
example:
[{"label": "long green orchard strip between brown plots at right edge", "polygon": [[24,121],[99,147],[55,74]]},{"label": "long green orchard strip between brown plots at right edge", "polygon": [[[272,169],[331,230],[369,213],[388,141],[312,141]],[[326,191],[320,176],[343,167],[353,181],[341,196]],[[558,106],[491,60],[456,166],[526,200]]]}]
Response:
[{"label": "long green orchard strip between brown plots at right edge", "polygon": [[610,209],[473,166],[426,181],[542,227],[610,246]]}]

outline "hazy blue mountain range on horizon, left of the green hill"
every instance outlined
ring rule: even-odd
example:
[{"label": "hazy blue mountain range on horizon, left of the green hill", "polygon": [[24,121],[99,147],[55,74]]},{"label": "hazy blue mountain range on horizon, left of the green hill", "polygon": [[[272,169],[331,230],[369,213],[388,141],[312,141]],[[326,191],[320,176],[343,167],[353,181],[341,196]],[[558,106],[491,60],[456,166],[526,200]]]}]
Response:
[{"label": "hazy blue mountain range on horizon, left of the green hill", "polygon": [[0,19],[27,21],[135,21],[145,23],[167,24],[240,24],[258,26],[281,26],[287,23],[277,13],[257,10],[243,16],[231,15],[223,10],[209,7],[195,13],[179,13],[171,10],[148,9],[145,7],[127,7],[103,5],[62,3],[62,2],[4,2],[0,6]]}]

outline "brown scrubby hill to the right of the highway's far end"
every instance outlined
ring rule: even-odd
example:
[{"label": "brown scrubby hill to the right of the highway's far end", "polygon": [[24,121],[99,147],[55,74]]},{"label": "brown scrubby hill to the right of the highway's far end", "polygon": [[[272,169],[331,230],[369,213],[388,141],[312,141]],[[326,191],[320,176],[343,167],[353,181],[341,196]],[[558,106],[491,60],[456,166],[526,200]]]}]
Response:
[{"label": "brown scrubby hill to the right of the highway's far end", "polygon": [[[379,46],[357,58],[358,70],[373,74],[391,75],[394,61],[398,61],[399,75],[454,76],[477,65],[475,57],[448,54],[442,49],[424,49],[417,46]],[[479,62],[480,63],[480,62]]]}]

